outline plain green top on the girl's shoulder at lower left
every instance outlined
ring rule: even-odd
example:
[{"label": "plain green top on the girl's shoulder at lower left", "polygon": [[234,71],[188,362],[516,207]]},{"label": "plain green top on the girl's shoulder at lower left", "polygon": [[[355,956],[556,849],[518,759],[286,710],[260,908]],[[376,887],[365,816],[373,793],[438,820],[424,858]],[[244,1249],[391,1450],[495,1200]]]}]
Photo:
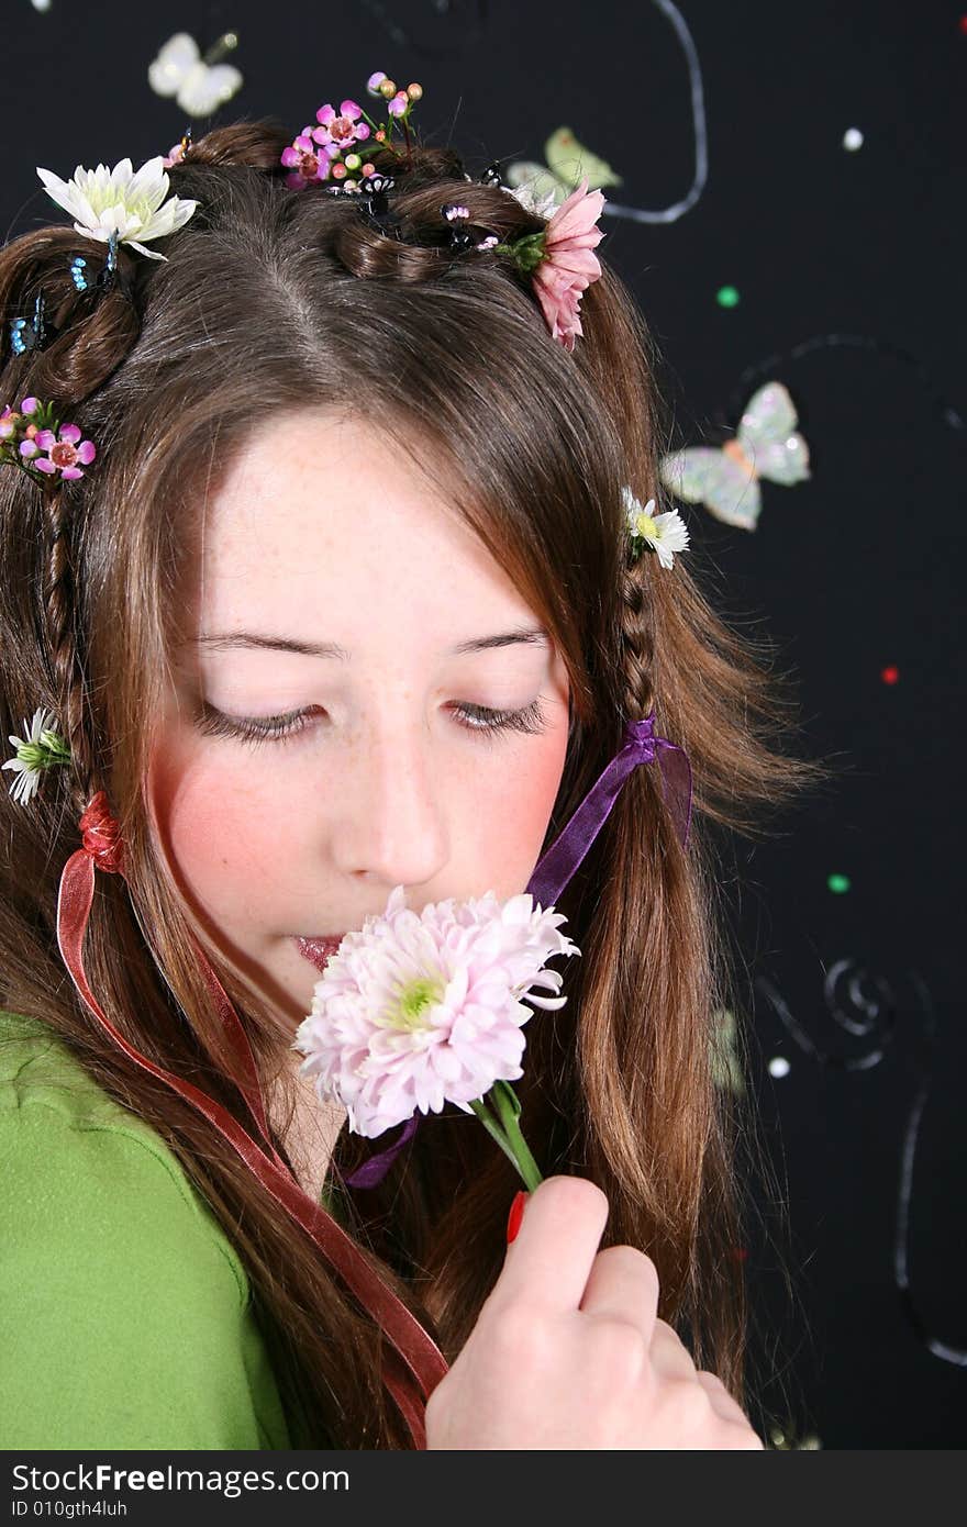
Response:
[{"label": "plain green top on the girl's shoulder at lower left", "polygon": [[244,1267],[177,1157],[0,1011],[0,1448],[292,1446]]}]

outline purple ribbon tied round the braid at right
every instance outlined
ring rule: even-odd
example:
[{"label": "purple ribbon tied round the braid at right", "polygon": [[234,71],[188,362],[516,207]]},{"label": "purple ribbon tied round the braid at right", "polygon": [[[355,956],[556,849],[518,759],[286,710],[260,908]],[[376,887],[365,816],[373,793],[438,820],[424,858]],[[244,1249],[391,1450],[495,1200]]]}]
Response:
[{"label": "purple ribbon tied round the braid at right", "polygon": [[[599,776],[527,881],[527,890],[533,896],[535,906],[547,909],[559,899],[561,892],[608,820],[622,785],[639,764],[654,764],[655,757],[658,759],[665,803],[672,812],[681,847],[687,849],[692,826],[692,765],[684,748],[680,748],[677,742],[669,742],[668,738],[657,738],[654,730],[654,712],[643,721],[625,724],[625,742],[620,753]],[[406,1119],[400,1138],[379,1156],[371,1156],[370,1161],[364,1162],[345,1182],[351,1188],[376,1186],[403,1145],[412,1139],[419,1118],[419,1113],[414,1113]]]}]

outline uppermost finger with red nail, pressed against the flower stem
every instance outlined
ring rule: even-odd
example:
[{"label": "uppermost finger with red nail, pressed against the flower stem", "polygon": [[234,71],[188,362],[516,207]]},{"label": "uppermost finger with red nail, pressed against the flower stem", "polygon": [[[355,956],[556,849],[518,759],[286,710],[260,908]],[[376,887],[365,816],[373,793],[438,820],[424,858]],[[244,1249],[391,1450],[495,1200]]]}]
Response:
[{"label": "uppermost finger with red nail, pressed against the flower stem", "polygon": [[489,1303],[576,1310],[606,1220],[608,1200],[587,1177],[547,1177],[527,1197]]}]

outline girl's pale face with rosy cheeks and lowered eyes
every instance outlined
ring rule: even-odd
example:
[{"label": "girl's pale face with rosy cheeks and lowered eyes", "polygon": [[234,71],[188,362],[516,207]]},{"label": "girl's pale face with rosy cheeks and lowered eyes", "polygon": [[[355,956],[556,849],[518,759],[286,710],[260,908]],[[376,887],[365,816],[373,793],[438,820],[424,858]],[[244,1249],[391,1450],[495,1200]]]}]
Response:
[{"label": "girl's pale face with rosy cheeks and lowered eyes", "polygon": [[548,638],[480,646],[541,623],[391,441],[325,412],[252,435],[183,609],[153,831],[209,950],[287,1025],[319,979],[298,936],[361,928],[397,884],[416,912],[526,890],[567,672]]}]

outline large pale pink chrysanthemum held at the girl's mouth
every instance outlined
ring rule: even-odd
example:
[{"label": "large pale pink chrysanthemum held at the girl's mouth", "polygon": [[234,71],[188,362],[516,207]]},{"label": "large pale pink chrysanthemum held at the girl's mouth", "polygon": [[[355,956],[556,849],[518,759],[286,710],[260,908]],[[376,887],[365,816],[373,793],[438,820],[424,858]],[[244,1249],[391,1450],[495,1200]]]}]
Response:
[{"label": "large pale pink chrysanthemum held at the girl's mouth", "polygon": [[522,1075],[532,1006],[562,1008],[553,954],[581,954],[558,931],[567,919],[529,893],[440,901],[422,913],[397,886],[382,916],[347,933],[316,982],[293,1049],[321,1099],[341,1102],[357,1135],[374,1138],[417,1110],[454,1102],[472,1113],[495,1081]]}]

